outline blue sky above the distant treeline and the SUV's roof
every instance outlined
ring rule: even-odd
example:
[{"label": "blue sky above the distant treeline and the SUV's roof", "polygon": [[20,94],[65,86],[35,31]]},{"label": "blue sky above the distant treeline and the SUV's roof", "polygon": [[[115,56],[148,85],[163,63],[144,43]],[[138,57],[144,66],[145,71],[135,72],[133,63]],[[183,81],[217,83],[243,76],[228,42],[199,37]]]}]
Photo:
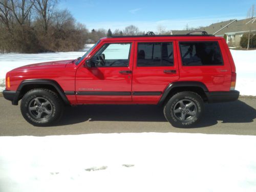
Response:
[{"label": "blue sky above the distant treeline and the SUV's roof", "polygon": [[77,19],[92,29],[124,29],[135,25],[141,31],[157,31],[207,26],[233,18],[246,18],[256,0],[61,0],[59,8],[67,8]]}]

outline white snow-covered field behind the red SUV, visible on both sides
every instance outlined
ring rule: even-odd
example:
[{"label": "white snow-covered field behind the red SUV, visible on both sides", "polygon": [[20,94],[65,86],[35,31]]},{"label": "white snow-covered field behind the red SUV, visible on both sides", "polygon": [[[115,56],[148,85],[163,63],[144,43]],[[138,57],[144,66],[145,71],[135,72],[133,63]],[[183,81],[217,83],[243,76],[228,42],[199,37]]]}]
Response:
[{"label": "white snow-covered field behind the red SUV, visible on both sides", "polygon": [[[87,45],[84,52],[60,52],[38,54],[0,54],[0,91],[5,89],[5,75],[8,71],[31,63],[75,59],[81,57],[93,44]],[[256,50],[230,50],[237,68],[236,90],[241,95],[256,96]]]}]

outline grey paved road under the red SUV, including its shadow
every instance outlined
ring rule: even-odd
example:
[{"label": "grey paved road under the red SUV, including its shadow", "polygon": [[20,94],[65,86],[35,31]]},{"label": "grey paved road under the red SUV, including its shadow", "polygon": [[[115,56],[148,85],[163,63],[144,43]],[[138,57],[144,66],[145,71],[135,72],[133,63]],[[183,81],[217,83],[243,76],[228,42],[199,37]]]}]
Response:
[{"label": "grey paved road under the red SUV, including its shadow", "polygon": [[142,132],[256,135],[255,109],[255,98],[206,104],[204,119],[196,128],[179,129],[166,122],[159,106],[83,105],[66,108],[55,126],[35,127],[24,120],[19,106],[0,97],[0,136]]}]

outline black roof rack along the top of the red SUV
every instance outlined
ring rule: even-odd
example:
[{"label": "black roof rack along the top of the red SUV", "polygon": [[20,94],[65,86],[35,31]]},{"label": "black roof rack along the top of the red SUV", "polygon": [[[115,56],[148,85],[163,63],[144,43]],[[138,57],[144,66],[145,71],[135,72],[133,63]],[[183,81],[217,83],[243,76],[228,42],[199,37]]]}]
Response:
[{"label": "black roof rack along the top of the red SUV", "polygon": [[[202,32],[202,34],[191,34],[195,32]],[[123,36],[112,36],[110,38],[121,38],[121,37],[178,37],[178,36],[215,36],[209,35],[206,31],[191,31],[187,34],[176,34],[176,35],[155,35],[154,32],[148,31],[145,35],[123,35]]]}]

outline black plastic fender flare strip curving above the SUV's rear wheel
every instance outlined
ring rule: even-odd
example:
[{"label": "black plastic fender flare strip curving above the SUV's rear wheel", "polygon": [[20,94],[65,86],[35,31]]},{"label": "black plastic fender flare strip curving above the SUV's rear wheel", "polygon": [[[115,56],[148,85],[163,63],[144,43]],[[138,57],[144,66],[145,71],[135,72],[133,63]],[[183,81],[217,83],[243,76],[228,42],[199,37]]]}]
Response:
[{"label": "black plastic fender flare strip curving above the SUV's rear wheel", "polygon": [[205,86],[204,83],[200,81],[176,81],[168,84],[159,100],[159,103],[163,103],[166,97],[169,95],[169,93],[177,87],[199,87],[203,89],[206,95],[208,93],[207,87]]}]

